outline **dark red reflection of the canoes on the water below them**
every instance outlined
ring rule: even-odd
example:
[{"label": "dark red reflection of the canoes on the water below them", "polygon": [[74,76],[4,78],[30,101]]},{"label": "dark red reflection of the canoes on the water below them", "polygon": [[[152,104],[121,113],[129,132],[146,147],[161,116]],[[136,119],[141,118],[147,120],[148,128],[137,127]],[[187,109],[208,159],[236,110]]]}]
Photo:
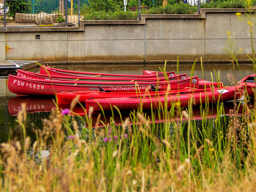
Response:
[{"label": "dark red reflection of the canoes on the water below them", "polygon": [[[42,97],[29,97],[29,96],[17,96],[14,97],[12,99],[9,100],[8,102],[8,109],[9,109],[9,113],[11,116],[17,115],[19,113],[19,111],[22,110],[22,103],[26,103],[26,112],[27,113],[36,113],[36,112],[51,112],[52,109],[56,110],[56,106],[54,103],[54,99],[53,98],[42,98]],[[253,106],[253,101],[250,101],[250,105]],[[70,105],[59,105],[60,109],[65,109],[65,108],[70,108]],[[225,115],[229,114],[229,110],[230,109],[234,109],[234,103],[232,101],[230,102],[224,102],[224,111],[225,111]],[[84,109],[79,106],[76,105],[76,107],[73,109],[73,114],[71,113],[70,115],[80,115],[80,116],[85,116],[86,112],[84,111]],[[150,110],[145,110],[144,111],[147,114],[147,117],[149,117],[149,119],[151,119],[151,111]],[[130,111],[126,110],[126,111],[121,111],[122,113],[122,119],[124,120],[126,117],[130,117]],[[238,109],[238,115],[243,113],[243,106],[240,105],[239,109]],[[97,122],[97,118],[98,115],[101,113],[95,113],[92,114],[92,127],[95,127],[95,124]],[[207,115],[204,115],[204,118],[215,118],[217,116],[217,108],[216,107],[209,107],[209,112],[207,113]],[[110,117],[112,117],[112,113],[108,112],[105,113],[105,117],[103,115],[100,116],[100,120],[102,122],[104,122],[105,124],[109,124],[110,123]],[[115,124],[116,125],[120,125],[122,123],[122,121],[120,120],[120,115],[118,113],[114,113],[114,117],[115,117]],[[155,117],[155,123],[164,123],[165,120],[163,119],[159,119],[158,116]],[[202,115],[200,112],[200,107],[199,106],[195,106],[193,108],[193,118],[192,120],[201,120],[202,119]],[[180,119],[177,119],[180,120]],[[186,120],[185,118],[182,120]],[[151,122],[152,123],[152,122]]]}]

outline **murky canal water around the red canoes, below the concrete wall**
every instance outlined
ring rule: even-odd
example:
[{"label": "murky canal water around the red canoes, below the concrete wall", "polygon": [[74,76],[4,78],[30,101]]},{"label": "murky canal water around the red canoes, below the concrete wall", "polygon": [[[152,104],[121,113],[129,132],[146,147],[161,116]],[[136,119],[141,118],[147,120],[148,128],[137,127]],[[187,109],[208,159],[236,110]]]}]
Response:
[{"label": "murky canal water around the red canoes, below the concrete wall", "polygon": [[[147,68],[148,70],[160,71],[159,67],[163,67],[164,65],[149,65],[144,66],[140,65],[49,65],[53,68],[61,68],[67,70],[75,70],[75,71],[88,71],[88,72],[100,72],[100,73],[116,73],[116,74],[142,74],[143,68]],[[250,75],[253,73],[253,68],[251,64],[241,64],[240,69],[236,66],[233,69],[232,65],[227,64],[216,64],[209,65],[204,64],[202,72],[201,65],[196,65],[193,76],[198,76],[198,78],[203,78],[212,81],[216,81],[216,77],[214,75],[214,69],[216,73],[220,73],[220,80],[224,85],[231,85],[228,80],[227,74],[234,74],[237,80],[240,80],[242,77]],[[187,73],[190,76],[192,65],[180,65],[179,66],[179,74]],[[29,71],[39,73],[40,68],[32,68]],[[168,64],[166,66],[166,71],[177,71],[177,67],[174,64]],[[177,73],[177,72],[176,72]],[[212,76],[211,76],[212,73]],[[14,73],[15,74],[15,73]],[[27,135],[31,137],[32,140],[35,140],[35,133],[33,132],[36,128],[42,128],[43,123],[42,120],[44,118],[48,118],[51,114],[51,109],[55,107],[53,98],[47,97],[28,97],[28,96],[19,96],[11,93],[7,88],[7,79],[0,79],[0,143],[6,142],[8,138],[20,137],[20,128],[17,126],[18,123],[15,121],[17,118],[18,112],[22,109],[21,103],[26,102],[26,110],[27,110]],[[232,102],[225,103],[225,111],[228,113],[229,108],[233,108]],[[68,106],[67,106],[68,107]],[[64,107],[63,107],[64,108]],[[82,108],[76,108],[75,111],[80,115],[84,115],[84,111]],[[128,116],[129,111],[123,113],[123,119],[125,116]],[[108,115],[106,114],[108,119]],[[194,115],[196,118],[200,119],[200,111],[198,108],[195,108]],[[212,115],[210,117],[214,118],[216,114],[212,111]],[[74,117],[76,118],[76,117]],[[78,121],[79,119],[76,118]],[[97,116],[93,116],[93,121],[96,121]],[[116,123],[118,123],[118,119],[115,119]]]}]

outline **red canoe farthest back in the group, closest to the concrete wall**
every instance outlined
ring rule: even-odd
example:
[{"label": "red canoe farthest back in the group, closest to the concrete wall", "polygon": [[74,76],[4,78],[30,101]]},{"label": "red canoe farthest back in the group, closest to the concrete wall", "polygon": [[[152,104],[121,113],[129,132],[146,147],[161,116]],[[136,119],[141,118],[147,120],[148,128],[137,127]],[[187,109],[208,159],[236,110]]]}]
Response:
[{"label": "red canoe farthest back in the group, closest to the concrete wall", "polygon": [[[56,69],[46,66],[41,66],[40,74],[47,74],[47,75],[61,75],[61,76],[69,76],[69,75],[77,75],[77,76],[92,76],[92,77],[143,77],[144,75],[127,75],[127,74],[108,74],[108,73],[92,73],[92,72],[82,72],[82,71],[69,71],[63,69]],[[156,76],[155,74],[153,74]],[[168,72],[168,76],[174,76],[174,71]],[[164,77],[163,74],[159,74],[158,77]]]}]

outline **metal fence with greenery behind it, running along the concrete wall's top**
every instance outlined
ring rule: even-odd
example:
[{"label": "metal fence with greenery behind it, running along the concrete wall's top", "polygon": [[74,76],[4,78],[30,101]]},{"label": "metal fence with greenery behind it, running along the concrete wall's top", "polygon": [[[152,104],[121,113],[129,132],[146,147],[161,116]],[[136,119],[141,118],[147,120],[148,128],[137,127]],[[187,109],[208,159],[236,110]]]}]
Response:
[{"label": "metal fence with greenery behind it, running along the concrete wall's top", "polygon": [[[253,6],[255,1],[249,4]],[[200,7],[246,8],[249,4],[248,0],[0,0],[0,27],[79,25],[80,18],[134,20],[140,14],[193,14]]]}]

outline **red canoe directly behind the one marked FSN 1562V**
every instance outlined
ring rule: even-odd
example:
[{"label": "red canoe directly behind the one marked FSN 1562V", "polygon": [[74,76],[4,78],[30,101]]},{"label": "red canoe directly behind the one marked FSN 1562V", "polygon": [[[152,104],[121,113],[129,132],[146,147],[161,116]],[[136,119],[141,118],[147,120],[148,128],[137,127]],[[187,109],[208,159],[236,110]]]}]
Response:
[{"label": "red canoe directly behind the one marked FSN 1562V", "polygon": [[[60,75],[45,75],[45,74],[38,74],[38,73],[32,73],[28,71],[23,71],[18,69],[17,70],[17,76],[22,78],[28,78],[28,79],[42,79],[42,80],[53,80],[53,81],[116,81],[116,82],[129,82],[129,81],[166,81],[165,77],[157,77],[156,75],[152,76],[142,76],[142,77],[91,77],[91,76],[60,76]],[[185,79],[187,77],[187,74],[180,74],[180,75],[174,75],[172,77],[169,77],[169,80],[175,80],[175,79]]]}]

